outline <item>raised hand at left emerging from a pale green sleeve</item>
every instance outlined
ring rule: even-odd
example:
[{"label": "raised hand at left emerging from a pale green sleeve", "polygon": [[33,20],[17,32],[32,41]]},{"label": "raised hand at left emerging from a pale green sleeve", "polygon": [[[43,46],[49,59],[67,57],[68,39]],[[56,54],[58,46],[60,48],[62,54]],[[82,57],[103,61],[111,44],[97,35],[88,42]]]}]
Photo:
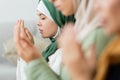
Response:
[{"label": "raised hand at left emerging from a pale green sleeve", "polygon": [[40,58],[41,55],[33,43],[29,40],[26,35],[27,31],[24,29],[24,21],[18,20],[14,28],[14,41],[18,55],[25,60],[30,62],[34,59]]}]

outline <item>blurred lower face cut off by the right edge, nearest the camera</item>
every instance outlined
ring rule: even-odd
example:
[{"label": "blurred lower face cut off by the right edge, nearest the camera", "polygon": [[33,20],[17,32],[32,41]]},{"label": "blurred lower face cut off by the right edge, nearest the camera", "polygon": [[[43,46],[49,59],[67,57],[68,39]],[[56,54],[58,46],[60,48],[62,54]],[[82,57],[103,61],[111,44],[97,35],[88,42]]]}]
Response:
[{"label": "blurred lower face cut off by the right edge, nearest the camera", "polygon": [[120,32],[120,0],[96,0],[95,9],[107,34]]}]

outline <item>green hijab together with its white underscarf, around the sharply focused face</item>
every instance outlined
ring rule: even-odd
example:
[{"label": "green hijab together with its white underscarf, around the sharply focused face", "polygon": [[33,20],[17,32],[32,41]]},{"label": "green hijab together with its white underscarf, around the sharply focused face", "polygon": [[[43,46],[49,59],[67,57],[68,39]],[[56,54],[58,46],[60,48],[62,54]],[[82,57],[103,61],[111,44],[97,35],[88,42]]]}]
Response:
[{"label": "green hijab together with its white underscarf, around the sharply focused face", "polygon": [[68,22],[75,22],[74,15],[65,17],[59,12],[49,0],[40,0],[37,10],[41,11],[44,15],[50,18],[53,22],[58,25],[58,30],[55,36],[49,38],[51,44],[45,51],[42,52],[43,57],[48,61],[48,57],[55,53],[58,49],[56,38],[59,36],[61,28]]}]

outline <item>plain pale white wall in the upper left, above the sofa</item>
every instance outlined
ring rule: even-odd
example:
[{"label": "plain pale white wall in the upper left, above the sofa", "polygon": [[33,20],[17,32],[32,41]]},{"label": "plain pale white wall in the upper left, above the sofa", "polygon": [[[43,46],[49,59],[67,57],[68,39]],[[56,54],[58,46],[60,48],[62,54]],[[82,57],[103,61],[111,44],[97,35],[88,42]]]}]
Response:
[{"label": "plain pale white wall in the upper left, above the sofa", "polygon": [[34,20],[38,0],[0,0],[0,22]]}]

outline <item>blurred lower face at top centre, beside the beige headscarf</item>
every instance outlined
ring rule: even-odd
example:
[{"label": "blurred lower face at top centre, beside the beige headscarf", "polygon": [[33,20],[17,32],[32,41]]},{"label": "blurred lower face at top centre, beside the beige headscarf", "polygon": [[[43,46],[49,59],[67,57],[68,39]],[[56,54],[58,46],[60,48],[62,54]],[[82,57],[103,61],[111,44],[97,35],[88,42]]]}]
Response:
[{"label": "blurred lower face at top centre, beside the beige headscarf", "polygon": [[54,6],[62,12],[65,16],[74,14],[74,3],[73,0],[49,0]]}]

